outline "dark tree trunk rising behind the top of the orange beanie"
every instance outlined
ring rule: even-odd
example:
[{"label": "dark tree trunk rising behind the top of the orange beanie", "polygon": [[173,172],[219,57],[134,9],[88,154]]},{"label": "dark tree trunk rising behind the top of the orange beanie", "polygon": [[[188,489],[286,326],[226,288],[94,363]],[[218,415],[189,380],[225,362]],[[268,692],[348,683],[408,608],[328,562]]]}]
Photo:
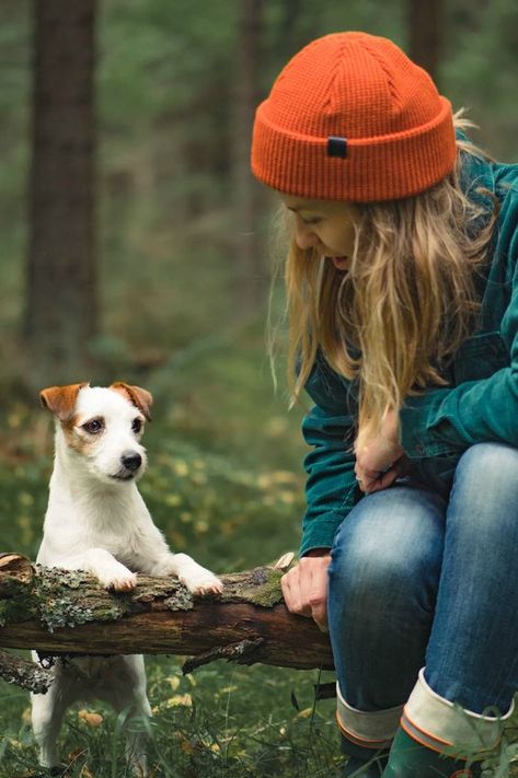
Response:
[{"label": "dark tree trunk rising behind the top of the orange beanie", "polygon": [[442,30],[442,0],[410,0],[410,57],[437,83]]}]

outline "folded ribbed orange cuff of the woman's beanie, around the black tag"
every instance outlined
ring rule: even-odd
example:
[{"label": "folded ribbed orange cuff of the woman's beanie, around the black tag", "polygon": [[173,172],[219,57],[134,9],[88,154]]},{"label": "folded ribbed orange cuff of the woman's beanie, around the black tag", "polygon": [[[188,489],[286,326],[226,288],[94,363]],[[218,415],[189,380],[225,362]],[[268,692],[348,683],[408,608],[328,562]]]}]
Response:
[{"label": "folded ribbed orange cuff of the woman's beanie, around the black tag", "polygon": [[345,158],[327,154],[327,138],[289,132],[268,120],[267,103],[256,112],[252,171],[267,186],[299,197],[353,202],[417,195],[453,169],[457,146],[451,103],[410,130],[373,138],[347,138]]}]

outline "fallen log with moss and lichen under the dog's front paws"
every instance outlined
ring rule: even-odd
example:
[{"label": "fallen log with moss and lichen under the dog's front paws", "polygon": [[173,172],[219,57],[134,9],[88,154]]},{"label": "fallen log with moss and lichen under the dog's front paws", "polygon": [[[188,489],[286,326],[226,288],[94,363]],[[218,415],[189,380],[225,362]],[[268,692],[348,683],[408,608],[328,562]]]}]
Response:
[{"label": "fallen log with moss and lichen under the dog's front paws", "polygon": [[[43,568],[2,554],[0,647],[53,657],[194,654],[189,671],[219,658],[332,669],[327,635],[312,619],[290,614],[283,602],[280,578],[289,557],[221,576],[221,595],[193,597],[173,579],[139,574],[133,592],[115,593],[87,572]],[[7,677],[1,657],[0,675]]]}]

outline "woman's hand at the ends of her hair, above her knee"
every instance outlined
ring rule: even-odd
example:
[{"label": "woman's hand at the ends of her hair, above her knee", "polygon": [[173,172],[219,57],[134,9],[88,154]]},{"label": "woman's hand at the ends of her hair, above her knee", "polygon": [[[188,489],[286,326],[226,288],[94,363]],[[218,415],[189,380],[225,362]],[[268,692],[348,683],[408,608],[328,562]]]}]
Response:
[{"label": "woman's hand at the ends of her hair, above her knee", "polygon": [[358,432],[355,443],[355,473],[361,491],[385,489],[401,473],[404,451],[399,441],[399,419],[394,410],[383,417],[381,430],[373,436]]}]

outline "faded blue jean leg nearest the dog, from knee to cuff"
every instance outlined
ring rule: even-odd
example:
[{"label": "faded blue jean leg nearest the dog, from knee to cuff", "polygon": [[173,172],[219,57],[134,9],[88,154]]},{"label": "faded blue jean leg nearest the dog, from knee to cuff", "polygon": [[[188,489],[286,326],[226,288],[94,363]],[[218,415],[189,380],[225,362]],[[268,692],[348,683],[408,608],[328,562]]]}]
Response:
[{"label": "faded blue jean leg nearest the dog, from knee to cuff", "polygon": [[403,702],[424,664],[446,500],[394,485],[364,497],[332,549],[329,619],[338,684],[360,710]]}]

